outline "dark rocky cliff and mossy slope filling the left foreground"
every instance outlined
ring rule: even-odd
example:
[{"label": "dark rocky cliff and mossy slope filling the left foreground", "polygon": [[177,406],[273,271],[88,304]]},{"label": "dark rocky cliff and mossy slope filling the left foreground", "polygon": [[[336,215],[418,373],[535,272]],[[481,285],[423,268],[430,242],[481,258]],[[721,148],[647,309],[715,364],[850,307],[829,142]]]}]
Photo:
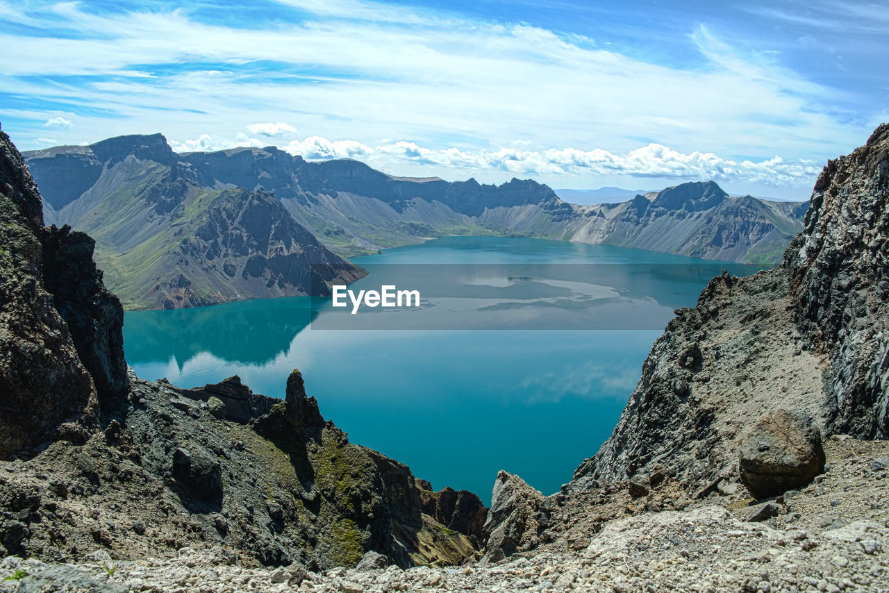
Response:
[{"label": "dark rocky cliff and mossy slope filling the left foreground", "polygon": [[[257,196],[228,194],[206,210],[208,224],[238,221]],[[281,208],[261,196],[258,207]],[[66,562],[99,549],[125,560],[219,546],[227,562],[319,570],[369,553],[404,567],[475,555],[474,525],[424,512],[423,497],[439,494],[324,421],[298,371],[283,402],[236,377],[177,389],[127,374],[123,309],[102,284],[92,239],[44,228],[5,134],[0,217],[0,556]],[[272,225],[272,240],[299,230],[287,224]],[[484,514],[475,500],[464,515]]]}]

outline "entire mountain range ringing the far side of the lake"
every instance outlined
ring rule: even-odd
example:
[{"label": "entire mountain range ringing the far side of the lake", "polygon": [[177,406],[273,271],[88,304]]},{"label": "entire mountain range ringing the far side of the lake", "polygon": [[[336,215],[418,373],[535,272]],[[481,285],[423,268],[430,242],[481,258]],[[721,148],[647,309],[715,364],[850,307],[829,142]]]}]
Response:
[{"label": "entire mountain range ringing the far side of the lake", "polygon": [[343,257],[445,235],[541,237],[767,266],[781,259],[808,208],[730,197],[713,181],[569,204],[533,180],[402,178],[274,147],[176,154],[161,134],[24,156],[47,223],[95,237],[108,286],[131,309],[305,294],[312,264],[349,281],[364,271]]}]

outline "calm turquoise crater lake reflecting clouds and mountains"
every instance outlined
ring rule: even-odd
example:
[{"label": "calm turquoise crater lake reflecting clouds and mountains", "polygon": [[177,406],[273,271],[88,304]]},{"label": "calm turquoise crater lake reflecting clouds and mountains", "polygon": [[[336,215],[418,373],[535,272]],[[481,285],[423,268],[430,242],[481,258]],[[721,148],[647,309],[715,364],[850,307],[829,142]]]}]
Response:
[{"label": "calm turquoise crater lake reflecting clouds and mountains", "polygon": [[[284,397],[299,368],[324,418],[352,442],[406,463],[436,489],[465,488],[489,503],[499,469],[556,492],[611,434],[672,310],[693,306],[723,269],[756,271],[474,236],[354,261],[370,275],[350,289],[418,284],[422,306],[351,316],[329,299],[297,297],[132,311],[127,361],[140,377],[180,387],[238,374],[272,397]],[[464,327],[473,329],[440,329]]]}]

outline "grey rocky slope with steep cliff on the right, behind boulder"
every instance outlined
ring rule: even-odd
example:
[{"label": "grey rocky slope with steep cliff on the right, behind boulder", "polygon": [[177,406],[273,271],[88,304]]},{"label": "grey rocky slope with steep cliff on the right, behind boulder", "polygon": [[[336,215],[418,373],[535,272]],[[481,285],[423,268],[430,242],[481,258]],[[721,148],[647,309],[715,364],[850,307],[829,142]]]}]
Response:
[{"label": "grey rocky slope with steep cliff on the right, behind boulder", "polygon": [[[829,162],[780,268],[718,276],[697,307],[677,309],[612,436],[575,471],[569,490],[663,463],[689,493],[706,495],[738,477],[743,437],[773,408],[813,418],[800,433],[809,445],[789,438],[768,445],[782,459],[797,457],[797,445],[812,449],[805,470],[785,466],[797,484],[819,470],[815,431],[887,435],[887,153],[882,125],[866,146]],[[780,489],[784,478],[772,479]]]}]

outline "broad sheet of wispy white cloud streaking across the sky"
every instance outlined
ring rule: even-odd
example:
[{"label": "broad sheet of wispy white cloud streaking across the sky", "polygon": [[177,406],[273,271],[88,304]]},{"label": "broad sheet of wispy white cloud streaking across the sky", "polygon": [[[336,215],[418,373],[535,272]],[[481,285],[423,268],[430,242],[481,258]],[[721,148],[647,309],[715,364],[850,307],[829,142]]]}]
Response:
[{"label": "broad sheet of wispy white cloud streaking across the sky", "polygon": [[274,138],[405,174],[620,172],[805,187],[806,161],[860,144],[873,116],[705,25],[677,34],[694,59],[676,65],[576,32],[370,1],[278,0],[280,17],[263,27],[204,20],[197,4],[144,5],[0,0],[0,20],[15,24],[0,29],[0,85],[52,108],[41,117],[32,100],[11,111],[14,124],[36,138],[48,117],[70,113],[77,137],[60,127],[63,141],[160,131],[180,150],[244,130],[242,145]]}]

